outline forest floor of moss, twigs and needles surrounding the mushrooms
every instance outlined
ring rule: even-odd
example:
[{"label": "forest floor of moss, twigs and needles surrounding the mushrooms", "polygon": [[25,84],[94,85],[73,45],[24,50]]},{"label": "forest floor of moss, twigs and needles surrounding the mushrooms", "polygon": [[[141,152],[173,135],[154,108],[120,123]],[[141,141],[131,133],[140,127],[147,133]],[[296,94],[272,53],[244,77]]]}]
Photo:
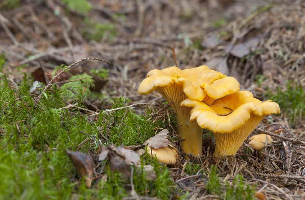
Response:
[{"label": "forest floor of moss, twigs and needles surrounding the mushrooms", "polygon": [[[0,199],[305,199],[305,2],[4,0],[0,11]],[[179,149],[163,97],[137,92],[175,65],[171,47],[179,68],[207,65],[280,105],[252,133],[272,136],[264,153],[247,139],[217,159],[206,131],[201,158],[122,160],[110,145],[137,150],[162,129]],[[45,86],[88,57],[109,62],[83,60]]]}]

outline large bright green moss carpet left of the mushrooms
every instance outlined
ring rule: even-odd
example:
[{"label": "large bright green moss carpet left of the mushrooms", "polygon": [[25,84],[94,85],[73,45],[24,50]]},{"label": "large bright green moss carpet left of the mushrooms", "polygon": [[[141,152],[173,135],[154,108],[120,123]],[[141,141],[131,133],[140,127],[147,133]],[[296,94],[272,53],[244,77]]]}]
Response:
[{"label": "large bright green moss carpet left of the mushrooms", "polygon": [[[90,78],[83,80],[87,79]],[[66,155],[66,149],[97,151],[98,144],[95,143],[87,142],[79,146],[87,138],[79,130],[101,140],[98,127],[109,126],[110,132],[103,132],[108,137],[105,145],[134,145],[142,144],[155,134],[155,128],[165,127],[167,122],[148,121],[148,114],[152,112],[150,110],[142,115],[135,114],[134,110],[118,110],[100,115],[97,121],[89,121],[78,109],[57,109],[71,102],[63,94],[73,86],[61,89],[51,86],[46,97],[35,104],[33,96],[29,94],[32,82],[25,76],[17,90],[10,86],[5,75],[0,76],[0,200],[72,197],[121,199],[128,196],[130,183],[123,181],[119,173],[111,172],[107,167],[107,182],[100,181],[91,189],[85,187],[83,180],[77,182],[76,171]],[[89,86],[90,82],[78,84]],[[76,99],[79,102],[79,98]],[[128,102],[127,99],[116,98],[112,100],[112,105],[118,108]],[[153,166],[155,181],[146,178],[143,170],[146,164]],[[174,191],[174,187],[171,187],[174,182],[167,167],[148,155],[141,158],[141,165],[140,173],[134,175],[137,193],[168,199]]]}]

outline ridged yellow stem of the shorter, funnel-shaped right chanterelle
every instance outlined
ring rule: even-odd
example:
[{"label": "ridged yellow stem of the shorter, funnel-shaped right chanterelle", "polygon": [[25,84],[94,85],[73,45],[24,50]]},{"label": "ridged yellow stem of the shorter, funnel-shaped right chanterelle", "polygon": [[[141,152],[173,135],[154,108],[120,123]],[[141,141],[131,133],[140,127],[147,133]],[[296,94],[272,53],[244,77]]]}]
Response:
[{"label": "ridged yellow stem of the shorter, funnel-shaped right chanterelle", "polygon": [[215,137],[215,157],[235,155],[239,147],[246,138],[262,121],[264,116],[251,114],[250,119],[238,129],[230,133],[214,133]]}]

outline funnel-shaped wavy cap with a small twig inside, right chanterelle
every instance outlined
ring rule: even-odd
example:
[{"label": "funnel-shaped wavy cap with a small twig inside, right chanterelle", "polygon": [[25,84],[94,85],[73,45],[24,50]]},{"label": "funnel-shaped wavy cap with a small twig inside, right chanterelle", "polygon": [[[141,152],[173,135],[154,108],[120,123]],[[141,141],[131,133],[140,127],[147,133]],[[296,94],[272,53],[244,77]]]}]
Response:
[{"label": "funnel-shaped wavy cap with a small twig inside, right chanterelle", "polygon": [[230,133],[243,126],[251,116],[280,113],[277,103],[261,102],[248,91],[238,91],[224,96],[209,106],[201,101],[186,99],[181,106],[192,107],[190,121],[197,120],[201,128],[215,133]]}]

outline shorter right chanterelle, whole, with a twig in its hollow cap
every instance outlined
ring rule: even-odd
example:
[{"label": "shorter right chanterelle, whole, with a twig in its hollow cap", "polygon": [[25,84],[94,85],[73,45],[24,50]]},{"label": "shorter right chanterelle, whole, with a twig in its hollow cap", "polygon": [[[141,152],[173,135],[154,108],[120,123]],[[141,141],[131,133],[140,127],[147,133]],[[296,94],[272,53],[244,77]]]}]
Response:
[{"label": "shorter right chanterelle, whole, with a twig in its hollow cap", "polygon": [[214,101],[209,106],[201,101],[186,99],[182,106],[192,107],[190,121],[213,131],[216,157],[235,155],[249,134],[265,115],[280,113],[277,103],[260,101],[248,91],[238,91]]}]

